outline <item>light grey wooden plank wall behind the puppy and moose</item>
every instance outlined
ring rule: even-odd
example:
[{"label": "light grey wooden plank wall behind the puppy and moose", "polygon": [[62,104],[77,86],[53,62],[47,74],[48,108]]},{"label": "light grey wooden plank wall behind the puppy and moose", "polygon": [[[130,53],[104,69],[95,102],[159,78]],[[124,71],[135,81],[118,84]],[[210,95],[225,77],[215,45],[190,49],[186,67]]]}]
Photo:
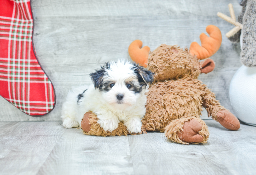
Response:
[{"label": "light grey wooden plank wall behind the puppy and moose", "polygon": [[[200,43],[199,35],[207,25],[222,31],[222,45],[211,58],[216,68],[199,79],[216,93],[221,104],[232,112],[229,84],[239,61],[240,45],[232,44],[225,33],[234,26],[220,19],[229,16],[228,4],[236,17],[241,12],[237,1],[227,0],[37,0],[34,13],[34,45],[43,69],[52,80],[57,102],[43,117],[32,117],[0,97],[0,121],[59,121],[61,106],[72,86],[89,84],[89,73],[102,63],[118,58],[130,59],[128,46],[142,40],[154,50],[160,44],[182,48]],[[203,117],[206,118],[206,113]]]}]

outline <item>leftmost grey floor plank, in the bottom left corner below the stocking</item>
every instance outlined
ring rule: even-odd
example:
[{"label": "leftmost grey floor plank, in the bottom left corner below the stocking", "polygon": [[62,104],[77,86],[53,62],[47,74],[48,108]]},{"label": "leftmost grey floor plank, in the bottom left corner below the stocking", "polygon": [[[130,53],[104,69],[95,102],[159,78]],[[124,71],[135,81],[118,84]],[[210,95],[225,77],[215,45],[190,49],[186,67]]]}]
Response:
[{"label": "leftmost grey floor plank, in the bottom left corner below the stocking", "polygon": [[36,174],[65,132],[61,122],[0,122],[0,174]]}]

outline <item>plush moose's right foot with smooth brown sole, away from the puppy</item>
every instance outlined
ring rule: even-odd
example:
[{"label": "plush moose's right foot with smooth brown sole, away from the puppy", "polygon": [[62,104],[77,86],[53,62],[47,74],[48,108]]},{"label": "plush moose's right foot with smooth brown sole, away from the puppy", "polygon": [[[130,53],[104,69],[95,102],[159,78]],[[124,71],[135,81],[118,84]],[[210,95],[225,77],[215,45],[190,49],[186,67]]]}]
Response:
[{"label": "plush moose's right foot with smooth brown sole, away from the puppy", "polygon": [[171,141],[182,144],[206,143],[209,131],[202,119],[187,117],[172,120],[165,127],[165,136]]}]

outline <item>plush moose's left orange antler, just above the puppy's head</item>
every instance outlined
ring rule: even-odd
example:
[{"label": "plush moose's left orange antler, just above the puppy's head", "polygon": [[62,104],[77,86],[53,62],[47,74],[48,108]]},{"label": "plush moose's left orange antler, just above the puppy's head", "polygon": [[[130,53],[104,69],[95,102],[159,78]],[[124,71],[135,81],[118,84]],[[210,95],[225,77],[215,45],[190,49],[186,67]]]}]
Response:
[{"label": "plush moose's left orange antler, just above the puppy's head", "polygon": [[143,67],[147,67],[148,54],[149,54],[150,48],[148,46],[144,46],[143,48],[141,47],[142,47],[142,41],[135,40],[130,44],[128,48],[128,52],[132,61],[138,63]]}]

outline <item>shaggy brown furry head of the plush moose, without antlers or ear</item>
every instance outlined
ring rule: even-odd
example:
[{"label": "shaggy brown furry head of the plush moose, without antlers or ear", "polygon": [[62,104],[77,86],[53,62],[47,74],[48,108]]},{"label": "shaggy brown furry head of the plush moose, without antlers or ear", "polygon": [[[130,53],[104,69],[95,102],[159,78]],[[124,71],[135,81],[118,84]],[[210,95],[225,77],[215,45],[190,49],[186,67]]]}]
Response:
[{"label": "shaggy brown furry head of the plush moose, without antlers or ear", "polygon": [[149,55],[147,68],[155,72],[155,81],[197,78],[201,73],[199,60],[177,45],[161,44]]}]

